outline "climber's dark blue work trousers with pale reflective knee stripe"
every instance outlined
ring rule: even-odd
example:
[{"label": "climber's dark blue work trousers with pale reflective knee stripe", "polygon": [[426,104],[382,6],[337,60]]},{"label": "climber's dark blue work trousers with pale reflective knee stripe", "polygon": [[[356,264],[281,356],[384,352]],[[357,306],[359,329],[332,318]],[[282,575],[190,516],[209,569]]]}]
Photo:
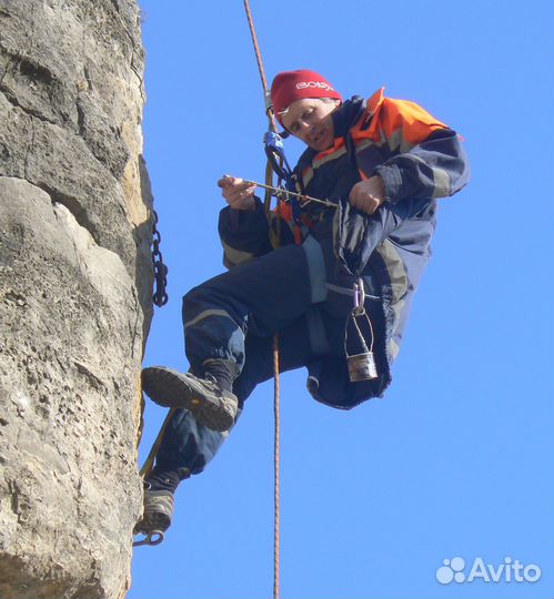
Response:
[{"label": "climber's dark blue work trousers with pale reflective knee stripe", "polygon": [[[212,358],[233,362],[239,374],[233,392],[242,408],[255,386],[273,376],[275,333],[281,372],[305,366],[315,355],[343,355],[352,284],[334,258],[330,236],[309,236],[301,246],[280,247],[202,283],[183,298],[191,369],[201,370]],[[157,468],[201,473],[225,437],[179,410]]]}]

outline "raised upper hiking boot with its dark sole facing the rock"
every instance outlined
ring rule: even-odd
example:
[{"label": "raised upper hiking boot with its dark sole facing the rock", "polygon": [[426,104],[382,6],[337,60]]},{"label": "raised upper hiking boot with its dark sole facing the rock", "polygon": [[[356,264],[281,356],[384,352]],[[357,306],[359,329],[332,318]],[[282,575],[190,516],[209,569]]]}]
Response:
[{"label": "raised upper hiking boot with its dark sole facing the rock", "polygon": [[236,396],[222,389],[209,374],[200,378],[164,366],[150,366],[142,370],[142,389],[160,406],[189,409],[199,424],[212,430],[229,430],[234,424]]}]

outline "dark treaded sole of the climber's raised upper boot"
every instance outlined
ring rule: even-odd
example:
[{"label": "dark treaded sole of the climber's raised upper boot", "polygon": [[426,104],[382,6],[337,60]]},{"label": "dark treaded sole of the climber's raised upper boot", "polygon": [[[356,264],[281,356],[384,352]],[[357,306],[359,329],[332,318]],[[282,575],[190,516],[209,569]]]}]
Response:
[{"label": "dark treaded sole of the climber's raised upper boot", "polygon": [[222,433],[234,424],[234,416],[195,389],[170,368],[153,366],[142,370],[142,390],[159,406],[188,409],[199,424]]}]

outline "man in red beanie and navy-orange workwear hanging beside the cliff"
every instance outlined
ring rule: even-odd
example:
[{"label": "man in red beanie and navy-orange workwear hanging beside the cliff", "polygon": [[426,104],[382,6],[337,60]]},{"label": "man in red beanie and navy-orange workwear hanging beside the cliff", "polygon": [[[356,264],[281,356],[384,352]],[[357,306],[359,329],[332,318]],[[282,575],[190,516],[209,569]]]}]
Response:
[{"label": "man in red beanie and navy-orange workwear hanging beside the cliff", "polygon": [[[279,122],[308,145],[294,169],[296,190],[329,202],[285,204],[280,216],[266,216],[251,183],[228,175],[218,182],[229,204],[219,232],[230,270],[184,296],[190,372],[143,370],[144,392],[179,408],[145,480],[143,532],[169,527],[179,483],[203,470],[244,400],[272,376],[275,333],[281,370],[306,366],[315,399],[349,409],[383,394],[430,257],[435,199],[469,179],[456,133],[412,102],[383,90],[366,102],[343,101],[306,70],[278,74],[271,91]],[[356,280],[376,372],[352,382],[344,339]],[[363,353],[363,344],[354,351]]]}]

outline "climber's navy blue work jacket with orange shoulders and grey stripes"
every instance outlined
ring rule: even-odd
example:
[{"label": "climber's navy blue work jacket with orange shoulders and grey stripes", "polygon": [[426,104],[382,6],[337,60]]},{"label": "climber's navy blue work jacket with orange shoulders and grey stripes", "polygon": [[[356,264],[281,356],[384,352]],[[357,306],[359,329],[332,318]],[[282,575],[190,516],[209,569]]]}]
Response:
[{"label": "climber's navy blue work jacket with orange shoulders and grey stripes", "polygon": [[[460,191],[470,169],[452,129],[413,102],[384,98],[383,90],[367,102],[359,97],[344,102],[333,121],[333,146],[323,152],[308,149],[294,171],[304,193],[339,205],[333,212],[314,204],[304,211],[306,223],[318,223],[312,234],[334,235],[336,261],[364,276],[381,298],[376,329],[384,351],[379,380],[351,384],[344,361],[338,358],[318,358],[310,365],[312,395],[350,408],[382,395],[389,385],[390,363],[400,349],[413,293],[431,256],[435,199]],[[353,209],[347,196],[356,182],[375,174],[383,180],[386,202],[369,216]],[[254,212],[239,212],[225,209],[220,217],[228,267],[272,250],[269,233],[275,215],[268,219],[260,203]],[[292,226],[292,214],[285,216]],[[292,242],[291,230],[282,226],[281,243]]]}]

